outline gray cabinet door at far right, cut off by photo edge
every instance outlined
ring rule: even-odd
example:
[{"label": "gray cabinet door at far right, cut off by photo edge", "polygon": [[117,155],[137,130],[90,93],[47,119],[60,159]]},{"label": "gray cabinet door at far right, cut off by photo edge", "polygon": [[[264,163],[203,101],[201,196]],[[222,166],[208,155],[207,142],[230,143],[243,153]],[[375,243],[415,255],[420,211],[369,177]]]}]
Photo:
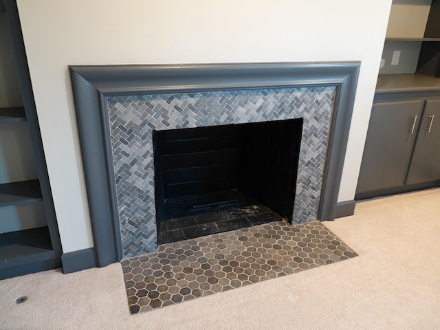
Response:
[{"label": "gray cabinet door at far right, cut off by photo edge", "polygon": [[440,100],[427,100],[406,184],[420,184],[438,179],[440,179]]}]

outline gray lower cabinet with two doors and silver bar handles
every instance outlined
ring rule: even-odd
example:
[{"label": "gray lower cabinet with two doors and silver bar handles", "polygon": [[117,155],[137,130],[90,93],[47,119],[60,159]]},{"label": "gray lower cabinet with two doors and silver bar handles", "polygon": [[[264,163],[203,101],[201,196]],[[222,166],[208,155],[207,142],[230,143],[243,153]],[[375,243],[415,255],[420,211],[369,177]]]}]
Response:
[{"label": "gray lower cabinet with two doors and silver bar handles", "polygon": [[375,102],[356,197],[437,185],[440,99]]}]

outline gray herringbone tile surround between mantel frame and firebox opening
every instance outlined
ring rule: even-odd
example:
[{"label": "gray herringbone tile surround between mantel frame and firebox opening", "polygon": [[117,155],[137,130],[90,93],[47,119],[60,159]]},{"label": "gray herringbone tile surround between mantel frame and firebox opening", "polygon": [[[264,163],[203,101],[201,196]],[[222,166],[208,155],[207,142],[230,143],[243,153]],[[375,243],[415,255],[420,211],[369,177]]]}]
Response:
[{"label": "gray herringbone tile surround between mantel frame and firebox opening", "polygon": [[318,217],[335,87],[107,98],[124,257],[155,252],[154,129],[303,118],[293,223]]}]

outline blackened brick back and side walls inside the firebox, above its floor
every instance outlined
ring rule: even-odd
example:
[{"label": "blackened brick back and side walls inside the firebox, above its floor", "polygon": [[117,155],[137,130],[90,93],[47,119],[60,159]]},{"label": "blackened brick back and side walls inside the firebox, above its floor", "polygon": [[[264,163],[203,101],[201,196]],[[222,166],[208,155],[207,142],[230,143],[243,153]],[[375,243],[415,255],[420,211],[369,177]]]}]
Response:
[{"label": "blackened brick back and side walls inside the firebox, above its floor", "polygon": [[302,128],[300,118],[153,131],[157,222],[173,217],[168,199],[224,190],[292,221]]}]

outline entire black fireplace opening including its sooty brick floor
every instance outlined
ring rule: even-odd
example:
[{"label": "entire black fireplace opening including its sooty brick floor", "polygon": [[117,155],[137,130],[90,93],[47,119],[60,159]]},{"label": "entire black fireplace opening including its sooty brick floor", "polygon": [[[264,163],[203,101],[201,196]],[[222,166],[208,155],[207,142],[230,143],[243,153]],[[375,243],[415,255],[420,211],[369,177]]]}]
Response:
[{"label": "entire black fireplace opening including its sooty brick floor", "polygon": [[303,118],[153,131],[158,243],[292,222]]}]

